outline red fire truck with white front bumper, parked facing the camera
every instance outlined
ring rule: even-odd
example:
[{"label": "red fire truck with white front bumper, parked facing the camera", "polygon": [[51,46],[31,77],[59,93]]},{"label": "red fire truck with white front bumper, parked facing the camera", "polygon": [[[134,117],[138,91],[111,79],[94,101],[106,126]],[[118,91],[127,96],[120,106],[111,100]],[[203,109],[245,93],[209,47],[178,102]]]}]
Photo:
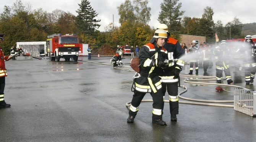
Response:
[{"label": "red fire truck with white front bumper, parked facing the camera", "polygon": [[75,34],[66,34],[62,36],[60,33],[47,36],[47,53],[50,53],[51,61],[60,61],[65,58],[69,61],[73,58],[78,60],[79,50],[83,48],[83,44],[79,44],[78,36]]}]

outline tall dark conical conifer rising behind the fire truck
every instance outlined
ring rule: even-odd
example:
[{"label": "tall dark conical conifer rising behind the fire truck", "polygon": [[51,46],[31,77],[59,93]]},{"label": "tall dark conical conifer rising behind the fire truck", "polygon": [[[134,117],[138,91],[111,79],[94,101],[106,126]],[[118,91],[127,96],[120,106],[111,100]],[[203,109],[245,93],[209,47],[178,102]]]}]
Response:
[{"label": "tall dark conical conifer rising behind the fire truck", "polygon": [[79,9],[76,10],[78,16],[76,17],[76,27],[80,33],[91,33],[95,32],[100,24],[97,24],[101,20],[96,20],[95,17],[98,16],[96,11],[90,5],[88,0],[82,0],[79,5]]}]

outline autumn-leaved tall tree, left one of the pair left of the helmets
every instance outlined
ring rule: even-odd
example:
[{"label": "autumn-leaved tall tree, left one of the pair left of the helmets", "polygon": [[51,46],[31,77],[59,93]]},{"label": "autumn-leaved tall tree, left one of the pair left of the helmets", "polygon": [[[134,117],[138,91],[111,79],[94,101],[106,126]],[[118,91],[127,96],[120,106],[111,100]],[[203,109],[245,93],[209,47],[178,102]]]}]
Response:
[{"label": "autumn-leaved tall tree, left one of the pair left of the helmets", "polygon": [[119,23],[122,25],[123,22],[134,23],[136,21],[136,16],[133,13],[134,8],[130,0],[125,0],[125,3],[122,3],[117,7],[118,15],[120,15]]}]

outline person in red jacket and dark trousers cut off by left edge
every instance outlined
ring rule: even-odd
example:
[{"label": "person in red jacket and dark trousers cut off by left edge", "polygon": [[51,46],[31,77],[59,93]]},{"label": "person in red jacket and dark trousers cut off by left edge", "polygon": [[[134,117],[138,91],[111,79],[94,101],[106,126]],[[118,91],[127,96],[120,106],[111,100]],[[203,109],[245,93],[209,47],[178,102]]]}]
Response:
[{"label": "person in red jacket and dark trousers cut off by left edge", "polygon": [[[0,33],[0,43],[3,42],[3,34]],[[5,60],[10,60],[12,56],[4,56],[2,47],[0,47],[0,108],[10,107],[10,104],[5,103],[4,90],[5,90],[5,77],[7,76],[5,68]]]}]

